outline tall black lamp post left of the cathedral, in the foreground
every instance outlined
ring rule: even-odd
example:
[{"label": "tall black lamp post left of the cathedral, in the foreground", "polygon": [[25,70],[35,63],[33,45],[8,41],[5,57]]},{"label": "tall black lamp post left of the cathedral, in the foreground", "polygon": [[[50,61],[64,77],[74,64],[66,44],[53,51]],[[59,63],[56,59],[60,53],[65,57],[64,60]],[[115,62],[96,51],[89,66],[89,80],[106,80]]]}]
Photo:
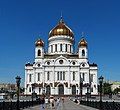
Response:
[{"label": "tall black lamp post left of the cathedral, in the foreground", "polygon": [[19,107],[19,102],[20,102],[20,100],[19,100],[19,93],[20,93],[20,80],[21,80],[21,78],[20,78],[20,76],[17,76],[16,78],[16,83],[17,83],[17,110],[20,110],[20,107]]}]

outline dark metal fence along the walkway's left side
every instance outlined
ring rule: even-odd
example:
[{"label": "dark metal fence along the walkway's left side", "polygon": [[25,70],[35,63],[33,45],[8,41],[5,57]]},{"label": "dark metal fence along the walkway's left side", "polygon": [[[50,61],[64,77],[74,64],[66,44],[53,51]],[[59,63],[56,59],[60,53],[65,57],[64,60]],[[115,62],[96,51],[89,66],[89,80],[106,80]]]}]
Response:
[{"label": "dark metal fence along the walkway's left side", "polygon": [[[19,108],[24,109],[30,106],[38,105],[39,100],[36,101],[20,101]],[[17,102],[0,102],[0,110],[17,110]]]}]

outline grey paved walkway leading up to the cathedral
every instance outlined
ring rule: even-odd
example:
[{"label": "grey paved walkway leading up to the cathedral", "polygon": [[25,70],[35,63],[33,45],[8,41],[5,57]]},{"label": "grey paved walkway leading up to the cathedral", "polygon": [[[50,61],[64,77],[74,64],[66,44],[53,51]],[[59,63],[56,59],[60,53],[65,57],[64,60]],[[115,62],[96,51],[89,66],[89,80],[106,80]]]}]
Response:
[{"label": "grey paved walkway leading up to the cathedral", "polygon": [[98,110],[98,109],[83,106],[83,105],[78,105],[73,101],[69,100],[68,98],[66,98],[64,103],[60,102],[59,106],[56,108],[51,109],[50,107],[48,107],[46,109],[43,109],[42,107],[40,107],[40,105],[38,105],[38,106],[30,107],[24,110]]}]

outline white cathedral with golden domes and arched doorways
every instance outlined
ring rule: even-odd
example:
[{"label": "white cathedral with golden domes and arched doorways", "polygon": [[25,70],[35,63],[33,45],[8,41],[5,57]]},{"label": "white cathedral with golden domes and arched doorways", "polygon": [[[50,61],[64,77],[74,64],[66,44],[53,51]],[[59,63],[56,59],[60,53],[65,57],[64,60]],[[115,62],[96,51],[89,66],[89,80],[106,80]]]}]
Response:
[{"label": "white cathedral with golden domes and arched doorways", "polygon": [[35,42],[35,61],[25,65],[25,94],[97,95],[97,64],[88,60],[88,44],[81,38],[74,53],[74,33],[61,17],[49,32],[48,52],[44,42]]}]

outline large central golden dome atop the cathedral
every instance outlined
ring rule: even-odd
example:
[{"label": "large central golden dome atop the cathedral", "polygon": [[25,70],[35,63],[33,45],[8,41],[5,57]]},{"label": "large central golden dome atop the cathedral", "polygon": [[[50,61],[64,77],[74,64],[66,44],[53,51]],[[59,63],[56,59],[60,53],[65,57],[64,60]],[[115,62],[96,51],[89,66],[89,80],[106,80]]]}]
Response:
[{"label": "large central golden dome atop the cathedral", "polygon": [[70,36],[72,38],[74,37],[72,30],[64,23],[62,17],[58,25],[55,26],[49,33],[49,37],[58,35]]}]

